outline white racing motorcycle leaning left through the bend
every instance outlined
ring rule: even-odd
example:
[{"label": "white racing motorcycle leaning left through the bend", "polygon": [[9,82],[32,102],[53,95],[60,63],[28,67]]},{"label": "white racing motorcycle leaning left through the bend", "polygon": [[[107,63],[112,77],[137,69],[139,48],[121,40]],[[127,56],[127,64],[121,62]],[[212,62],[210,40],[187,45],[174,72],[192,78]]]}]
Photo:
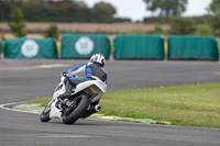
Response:
[{"label": "white racing motorcycle leaning left through the bend", "polygon": [[55,88],[52,101],[42,112],[40,120],[48,122],[52,119],[62,119],[65,124],[74,124],[78,119],[85,119],[100,111],[97,102],[107,91],[106,82],[97,77],[92,80],[75,83],[68,78],[70,86],[70,97],[66,99],[59,98],[66,92],[66,77],[61,77],[61,82]]}]

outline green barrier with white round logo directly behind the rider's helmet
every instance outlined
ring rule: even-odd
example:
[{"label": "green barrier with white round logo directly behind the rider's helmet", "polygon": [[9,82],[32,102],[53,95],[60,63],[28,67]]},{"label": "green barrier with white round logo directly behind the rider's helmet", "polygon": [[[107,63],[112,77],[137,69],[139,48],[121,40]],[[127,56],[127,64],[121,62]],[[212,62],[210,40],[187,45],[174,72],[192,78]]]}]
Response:
[{"label": "green barrier with white round logo directly behind the rider's helmet", "polygon": [[90,58],[101,53],[110,56],[110,40],[107,35],[65,34],[62,36],[61,58]]}]

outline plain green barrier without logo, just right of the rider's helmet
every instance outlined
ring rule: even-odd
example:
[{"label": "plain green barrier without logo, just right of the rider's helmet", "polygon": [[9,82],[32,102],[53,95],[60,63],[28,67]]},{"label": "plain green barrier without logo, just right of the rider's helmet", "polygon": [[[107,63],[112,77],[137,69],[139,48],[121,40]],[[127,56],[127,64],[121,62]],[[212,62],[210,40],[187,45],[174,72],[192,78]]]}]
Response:
[{"label": "plain green barrier without logo, just right of the rider's helmet", "polygon": [[113,40],[114,59],[164,59],[164,38],[157,35],[119,35]]}]

